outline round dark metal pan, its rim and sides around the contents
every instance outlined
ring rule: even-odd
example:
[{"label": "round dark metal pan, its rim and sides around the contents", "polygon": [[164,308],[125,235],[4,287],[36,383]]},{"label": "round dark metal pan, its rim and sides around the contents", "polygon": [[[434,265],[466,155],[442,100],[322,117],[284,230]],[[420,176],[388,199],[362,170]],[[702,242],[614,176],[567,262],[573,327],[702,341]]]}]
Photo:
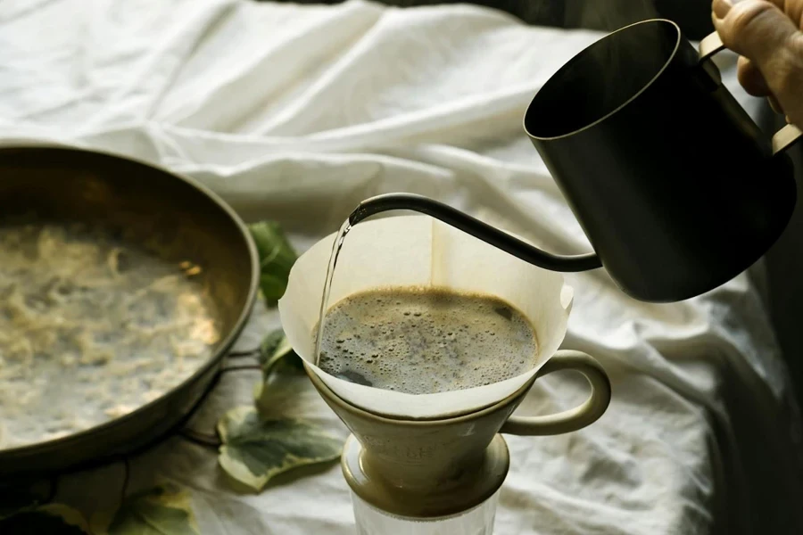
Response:
[{"label": "round dark metal pan, its rim and sides around the contents", "polygon": [[256,248],[235,212],[192,180],[141,161],[60,147],[2,148],[0,216],[30,213],[125,228],[135,243],[163,238],[171,244],[164,259],[203,266],[220,339],[194,374],[133,412],[57,440],[0,449],[0,481],[127,455],[175,429],[213,385],[259,284]]}]

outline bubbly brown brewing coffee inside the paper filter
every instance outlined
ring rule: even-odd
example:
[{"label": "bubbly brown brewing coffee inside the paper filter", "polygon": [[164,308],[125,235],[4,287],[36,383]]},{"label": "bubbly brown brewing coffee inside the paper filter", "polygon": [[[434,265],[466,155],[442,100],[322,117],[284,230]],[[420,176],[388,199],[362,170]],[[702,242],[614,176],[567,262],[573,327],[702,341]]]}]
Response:
[{"label": "bubbly brown brewing coffee inside the paper filter", "polygon": [[430,394],[523,374],[536,354],[532,325],[503,300],[403,288],[357,293],[329,309],[319,366],[352,383]]}]

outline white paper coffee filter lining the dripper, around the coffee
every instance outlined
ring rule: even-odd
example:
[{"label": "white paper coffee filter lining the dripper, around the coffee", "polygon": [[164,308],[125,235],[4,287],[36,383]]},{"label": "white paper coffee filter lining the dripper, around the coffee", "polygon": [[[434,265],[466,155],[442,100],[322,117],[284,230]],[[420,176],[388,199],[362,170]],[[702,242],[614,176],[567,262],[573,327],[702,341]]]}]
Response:
[{"label": "white paper coffee filter lining the dripper, around the coffee", "polygon": [[387,287],[493,295],[515,306],[534,326],[535,366],[499,383],[435,394],[380,390],[327,374],[314,364],[313,330],[334,240],[335,235],[327,236],[296,260],[278,308],[295,352],[335,394],[357,407],[414,419],[468,413],[517,391],[563,342],[573,291],[559,273],[535,268],[434,218],[383,218],[360,223],[346,236],[335,268],[330,308],[353,293]]}]

